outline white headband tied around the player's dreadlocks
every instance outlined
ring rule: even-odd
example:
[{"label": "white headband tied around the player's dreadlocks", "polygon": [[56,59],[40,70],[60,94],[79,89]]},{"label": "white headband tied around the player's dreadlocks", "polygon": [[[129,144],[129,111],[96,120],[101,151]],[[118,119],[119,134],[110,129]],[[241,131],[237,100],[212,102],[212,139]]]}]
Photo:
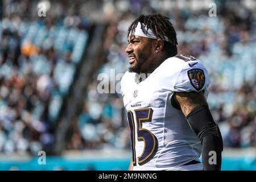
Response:
[{"label": "white headband tied around the player's dreadlocks", "polygon": [[[144,34],[142,29],[144,32],[147,31],[147,34]],[[138,22],[137,27],[135,28],[135,31],[134,31],[134,35],[143,36],[145,38],[150,38],[150,39],[158,39],[157,36],[155,36],[154,32],[150,28],[148,28],[147,30],[147,26],[145,26],[145,24],[141,22]],[[160,36],[160,38],[167,42],[170,42],[167,36]]]}]

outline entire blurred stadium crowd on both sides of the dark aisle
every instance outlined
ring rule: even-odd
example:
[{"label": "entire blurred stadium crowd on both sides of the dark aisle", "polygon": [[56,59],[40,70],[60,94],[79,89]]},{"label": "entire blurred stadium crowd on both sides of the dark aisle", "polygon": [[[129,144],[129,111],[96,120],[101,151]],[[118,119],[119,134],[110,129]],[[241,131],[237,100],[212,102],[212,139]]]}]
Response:
[{"label": "entire blurred stadium crowd on both sides of the dark aisle", "polygon": [[[100,73],[125,73],[127,28],[162,13],[177,32],[178,53],[203,61],[208,102],[225,147],[256,146],[256,5],[247,1],[5,1],[0,20],[0,152],[51,151],[56,121],[75,81],[92,22],[106,24],[100,68],[84,94],[68,150],[130,148],[118,93],[97,91]],[[216,16],[209,4],[216,3]],[[55,10],[55,11],[51,11]],[[110,77],[111,78],[111,77]],[[109,80],[118,84],[119,80]]]}]

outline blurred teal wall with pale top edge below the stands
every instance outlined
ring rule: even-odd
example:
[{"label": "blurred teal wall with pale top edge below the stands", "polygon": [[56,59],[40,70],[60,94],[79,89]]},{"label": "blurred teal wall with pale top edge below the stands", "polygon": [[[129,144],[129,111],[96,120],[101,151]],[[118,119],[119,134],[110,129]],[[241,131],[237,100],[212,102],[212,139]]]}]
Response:
[{"label": "blurred teal wall with pale top edge below the stands", "polygon": [[[255,148],[225,148],[221,169],[222,171],[255,171],[255,154]],[[38,157],[9,155],[6,158],[6,155],[0,155],[0,170],[126,171],[131,159],[130,151],[116,149],[65,151],[61,156],[47,156],[45,165],[39,165]]]}]

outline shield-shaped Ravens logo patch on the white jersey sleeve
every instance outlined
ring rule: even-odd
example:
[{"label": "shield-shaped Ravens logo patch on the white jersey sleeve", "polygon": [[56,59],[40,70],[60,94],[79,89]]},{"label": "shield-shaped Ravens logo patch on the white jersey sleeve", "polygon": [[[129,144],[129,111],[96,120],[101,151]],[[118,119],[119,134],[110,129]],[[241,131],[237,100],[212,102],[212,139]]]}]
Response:
[{"label": "shield-shaped Ravens logo patch on the white jersey sleeve", "polygon": [[203,69],[190,69],[188,71],[188,78],[193,88],[195,88],[197,91],[204,87],[205,75]]}]

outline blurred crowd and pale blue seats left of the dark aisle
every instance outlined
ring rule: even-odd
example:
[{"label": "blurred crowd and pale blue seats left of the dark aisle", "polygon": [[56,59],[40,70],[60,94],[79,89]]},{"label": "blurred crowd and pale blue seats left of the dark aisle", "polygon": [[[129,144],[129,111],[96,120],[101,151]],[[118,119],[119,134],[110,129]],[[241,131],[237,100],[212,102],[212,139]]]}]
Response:
[{"label": "blurred crowd and pale blue seats left of the dark aisle", "polygon": [[[5,1],[0,20],[0,152],[52,150],[56,121],[88,40],[88,22],[33,18],[35,1]],[[49,5],[49,4],[48,4]]]}]

